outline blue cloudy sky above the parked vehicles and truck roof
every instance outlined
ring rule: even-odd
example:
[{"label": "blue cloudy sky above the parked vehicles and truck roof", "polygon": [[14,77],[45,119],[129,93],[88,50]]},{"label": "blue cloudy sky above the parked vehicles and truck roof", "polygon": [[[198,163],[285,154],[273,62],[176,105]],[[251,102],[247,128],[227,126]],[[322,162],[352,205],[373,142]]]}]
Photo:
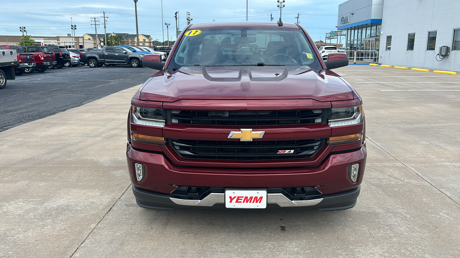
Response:
[{"label": "blue cloudy sky above the parked vehicles and truck roof", "polygon": [[[314,40],[322,39],[326,32],[337,26],[339,4],[345,0],[286,0],[282,10],[283,22],[296,22],[304,26]],[[133,0],[48,0],[39,4],[36,0],[1,1],[0,35],[21,35],[19,26],[26,26],[27,34],[34,36],[65,36],[71,33],[70,18],[77,30],[75,35],[94,33],[91,18],[98,17],[98,33],[104,33],[103,11],[106,12],[107,33],[136,34]],[[165,22],[170,23],[169,36],[176,36],[174,13],[179,11],[178,28],[186,25],[185,14],[190,12],[192,23],[227,22],[246,20],[245,0],[138,0],[139,33],[149,34],[153,39],[167,39]],[[279,19],[276,0],[248,0],[248,20],[274,21]],[[43,7],[42,7],[43,6]],[[163,24],[163,26],[162,26]],[[164,32],[164,35],[163,35]]]}]

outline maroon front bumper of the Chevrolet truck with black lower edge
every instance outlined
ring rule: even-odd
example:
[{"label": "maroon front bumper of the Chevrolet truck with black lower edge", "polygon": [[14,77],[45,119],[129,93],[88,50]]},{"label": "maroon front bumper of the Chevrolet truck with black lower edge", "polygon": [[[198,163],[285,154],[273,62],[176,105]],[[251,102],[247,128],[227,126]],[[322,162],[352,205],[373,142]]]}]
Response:
[{"label": "maroon front bumper of the Chevrolet truck with black lower edge", "polygon": [[[213,207],[223,203],[222,196],[213,195],[212,198],[193,202],[188,200],[171,199],[170,193],[178,186],[201,186],[201,187],[228,187],[228,188],[276,188],[276,187],[299,187],[309,186],[319,191],[322,196],[334,196],[357,189],[362,182],[366,165],[366,144],[359,149],[345,153],[330,153],[320,164],[313,167],[293,168],[209,168],[209,167],[184,167],[173,164],[163,153],[155,151],[142,151],[127,145],[127,163],[129,175],[138,203],[142,207]],[[142,163],[145,175],[141,182],[137,182],[134,174],[134,163]],[[357,182],[353,183],[349,178],[349,166],[359,163]],[[137,189],[137,190],[136,190]],[[359,191],[358,193],[359,194]],[[148,197],[150,196],[150,197]],[[156,197],[155,197],[156,196]],[[157,198],[158,197],[158,198]],[[161,198],[160,198],[161,197]],[[168,200],[164,201],[165,197]],[[305,207],[318,208],[329,205],[328,201],[309,200],[309,202],[296,202],[283,196],[270,196],[267,198],[271,206],[276,207]],[[356,195],[357,197],[357,195]],[[353,198],[351,198],[353,199]],[[163,201],[160,201],[163,200]],[[318,202],[319,201],[319,202]],[[345,200],[346,201],[346,200]],[[270,203],[271,202],[271,203]],[[317,203],[315,203],[317,202]],[[345,206],[352,207],[354,201],[346,201]],[[206,205],[204,205],[206,204]],[[211,205],[210,205],[211,204]],[[273,204],[273,205],[272,205]],[[143,206],[144,205],[144,206]],[[163,205],[163,206],[162,206]],[[210,205],[210,206],[209,206]],[[323,208],[327,208],[326,206]],[[330,208],[330,207],[329,207]]]}]

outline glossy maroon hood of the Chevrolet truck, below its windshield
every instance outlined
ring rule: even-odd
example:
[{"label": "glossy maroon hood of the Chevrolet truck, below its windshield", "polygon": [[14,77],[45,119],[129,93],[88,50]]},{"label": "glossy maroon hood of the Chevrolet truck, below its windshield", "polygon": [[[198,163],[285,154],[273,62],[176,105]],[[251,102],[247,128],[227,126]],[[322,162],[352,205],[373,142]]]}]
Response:
[{"label": "glossy maroon hood of the Chevrolet truck, below its windshield", "polygon": [[181,99],[344,101],[354,99],[354,95],[335,73],[316,73],[308,66],[194,66],[181,67],[173,74],[155,75],[141,88],[138,98],[163,102]]}]

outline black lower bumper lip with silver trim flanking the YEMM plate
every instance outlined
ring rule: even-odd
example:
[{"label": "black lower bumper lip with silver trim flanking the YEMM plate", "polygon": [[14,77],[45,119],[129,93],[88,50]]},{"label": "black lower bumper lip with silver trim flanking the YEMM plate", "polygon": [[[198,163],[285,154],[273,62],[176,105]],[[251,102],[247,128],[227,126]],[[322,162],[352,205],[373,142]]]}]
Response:
[{"label": "black lower bumper lip with silver trim flanking the YEMM plate", "polygon": [[[267,208],[314,208],[319,210],[343,210],[353,208],[359,196],[361,186],[337,194],[324,195],[322,198],[308,201],[291,201],[281,193],[267,195]],[[132,192],[140,207],[149,209],[172,210],[173,208],[225,208],[224,194],[209,194],[201,201],[183,200],[169,194],[155,193],[139,189],[132,185]]]}]

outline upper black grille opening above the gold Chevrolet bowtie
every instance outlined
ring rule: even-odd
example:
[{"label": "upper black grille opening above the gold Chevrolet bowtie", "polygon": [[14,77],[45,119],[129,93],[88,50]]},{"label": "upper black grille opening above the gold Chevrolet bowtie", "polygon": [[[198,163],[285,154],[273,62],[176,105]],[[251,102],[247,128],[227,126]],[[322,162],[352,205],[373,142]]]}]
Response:
[{"label": "upper black grille opening above the gold Chevrolet bowtie", "polygon": [[200,111],[168,110],[168,123],[197,125],[289,125],[325,123],[326,110]]}]

